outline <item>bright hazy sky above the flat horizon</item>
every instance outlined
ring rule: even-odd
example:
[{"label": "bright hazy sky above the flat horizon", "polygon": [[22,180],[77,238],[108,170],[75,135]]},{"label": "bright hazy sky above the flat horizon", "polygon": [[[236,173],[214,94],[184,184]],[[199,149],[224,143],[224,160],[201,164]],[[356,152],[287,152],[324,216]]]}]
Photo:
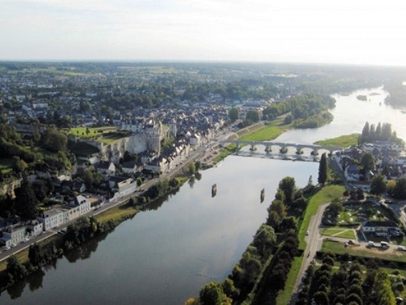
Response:
[{"label": "bright hazy sky above the flat horizon", "polygon": [[406,1],[0,0],[0,60],[406,66]]}]

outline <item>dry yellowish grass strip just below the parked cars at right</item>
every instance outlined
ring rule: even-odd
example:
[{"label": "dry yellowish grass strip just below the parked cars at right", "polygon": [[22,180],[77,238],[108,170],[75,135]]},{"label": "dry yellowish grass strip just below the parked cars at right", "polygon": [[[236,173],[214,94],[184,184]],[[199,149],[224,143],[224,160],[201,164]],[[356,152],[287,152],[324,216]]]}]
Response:
[{"label": "dry yellowish grass strip just below the parked cars at right", "polygon": [[323,252],[332,252],[333,254],[350,254],[352,256],[365,256],[365,257],[377,257],[378,259],[387,259],[391,261],[405,261],[405,251],[382,251],[381,249],[367,249],[365,244],[362,245],[349,245],[344,246],[343,243],[338,241],[330,241],[325,239],[321,248]]}]

